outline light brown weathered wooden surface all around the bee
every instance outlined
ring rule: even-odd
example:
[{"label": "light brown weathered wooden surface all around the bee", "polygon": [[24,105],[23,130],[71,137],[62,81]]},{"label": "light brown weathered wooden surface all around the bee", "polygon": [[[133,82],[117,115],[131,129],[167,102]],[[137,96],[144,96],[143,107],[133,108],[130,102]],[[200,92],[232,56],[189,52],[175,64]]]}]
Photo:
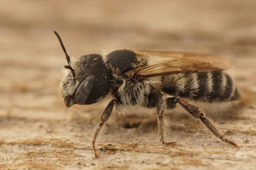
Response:
[{"label": "light brown weathered wooden surface all around the bee", "polygon": [[[0,169],[256,169],[255,9],[254,0],[0,1]],[[122,48],[227,57],[245,105],[212,117],[241,148],[177,109],[166,139],[177,145],[165,147],[154,110],[133,108],[96,140],[94,158],[90,135],[105,106],[65,108],[53,30],[75,57]],[[142,124],[125,128],[133,122]]]}]

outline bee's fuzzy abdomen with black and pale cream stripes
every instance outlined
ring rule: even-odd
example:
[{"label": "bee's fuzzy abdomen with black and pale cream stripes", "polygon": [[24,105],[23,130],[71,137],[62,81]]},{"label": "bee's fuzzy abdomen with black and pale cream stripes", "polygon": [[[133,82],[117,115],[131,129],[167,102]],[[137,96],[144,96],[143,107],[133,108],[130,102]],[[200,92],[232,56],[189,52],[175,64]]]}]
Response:
[{"label": "bee's fuzzy abdomen with black and pale cream stripes", "polygon": [[203,102],[221,102],[239,99],[233,79],[222,71],[175,74],[163,77],[163,91]]}]

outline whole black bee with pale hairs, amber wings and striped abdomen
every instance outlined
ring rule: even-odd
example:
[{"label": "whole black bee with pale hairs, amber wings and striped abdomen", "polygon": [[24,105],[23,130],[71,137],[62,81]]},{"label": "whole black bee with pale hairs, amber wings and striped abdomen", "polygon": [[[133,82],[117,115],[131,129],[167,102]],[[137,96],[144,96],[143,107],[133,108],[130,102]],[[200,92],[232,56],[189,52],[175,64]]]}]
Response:
[{"label": "whole black bee with pale hairs, amber wings and striped abdomen", "polygon": [[[66,55],[69,69],[61,83],[61,95],[67,107],[93,105],[114,96],[93,135],[92,147],[98,133],[113,112],[122,112],[125,106],[140,105],[156,108],[160,142],[169,129],[166,110],[181,105],[189,115],[201,122],[218,138],[234,147],[236,143],[227,139],[203,110],[189,101],[224,103],[239,100],[239,91],[234,80],[224,71],[230,65],[224,58],[207,54],[169,51],[116,50],[106,56],[88,54],[74,63],[64,48],[63,42],[54,31]],[[166,98],[164,94],[172,97]]]}]

